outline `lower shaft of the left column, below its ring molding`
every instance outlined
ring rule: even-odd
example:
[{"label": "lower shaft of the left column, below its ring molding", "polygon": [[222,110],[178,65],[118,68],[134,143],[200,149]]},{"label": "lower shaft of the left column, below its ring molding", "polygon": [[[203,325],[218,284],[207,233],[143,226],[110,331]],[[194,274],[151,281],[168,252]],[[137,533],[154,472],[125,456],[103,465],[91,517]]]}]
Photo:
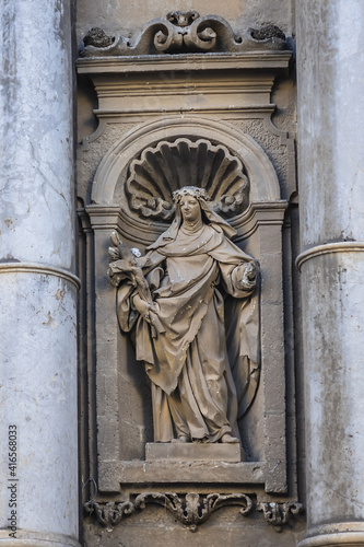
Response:
[{"label": "lower shaft of the left column, below its ring molding", "polygon": [[[37,545],[45,533],[78,533],[75,294],[57,276],[0,269],[1,439],[5,447],[15,426],[17,527]],[[0,472],[0,545],[9,545],[8,458]]]}]

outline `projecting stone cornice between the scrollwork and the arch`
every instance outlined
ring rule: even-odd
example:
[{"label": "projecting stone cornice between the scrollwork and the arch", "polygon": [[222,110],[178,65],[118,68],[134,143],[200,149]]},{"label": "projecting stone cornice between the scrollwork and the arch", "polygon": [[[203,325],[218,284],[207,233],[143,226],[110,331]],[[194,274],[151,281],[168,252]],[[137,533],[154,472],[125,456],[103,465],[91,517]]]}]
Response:
[{"label": "projecting stone cornice between the scrollwork and the arch", "polygon": [[[142,113],[272,112],[275,77],[291,51],[92,57],[78,60],[98,97],[98,118]],[[203,96],[203,101],[201,101]]]}]

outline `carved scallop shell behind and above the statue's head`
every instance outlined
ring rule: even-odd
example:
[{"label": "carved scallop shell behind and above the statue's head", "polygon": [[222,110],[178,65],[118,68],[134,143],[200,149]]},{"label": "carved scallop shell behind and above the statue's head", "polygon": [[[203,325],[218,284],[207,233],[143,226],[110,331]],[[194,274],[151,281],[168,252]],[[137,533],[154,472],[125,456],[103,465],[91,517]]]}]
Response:
[{"label": "carved scallop shell behind and above the statue's head", "polygon": [[184,186],[204,188],[216,212],[235,217],[249,205],[249,181],[242,161],[206,139],[161,141],[131,162],[126,183],[129,207],[143,219],[169,221],[172,194]]}]

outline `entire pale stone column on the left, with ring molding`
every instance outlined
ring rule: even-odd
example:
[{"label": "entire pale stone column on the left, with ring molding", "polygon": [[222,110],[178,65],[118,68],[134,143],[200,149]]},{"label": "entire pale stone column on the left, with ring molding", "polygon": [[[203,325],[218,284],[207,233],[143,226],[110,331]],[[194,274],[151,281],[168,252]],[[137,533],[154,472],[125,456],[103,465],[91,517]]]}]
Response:
[{"label": "entire pale stone column on the left, with ring molding", "polygon": [[71,2],[2,0],[0,545],[79,545]]}]

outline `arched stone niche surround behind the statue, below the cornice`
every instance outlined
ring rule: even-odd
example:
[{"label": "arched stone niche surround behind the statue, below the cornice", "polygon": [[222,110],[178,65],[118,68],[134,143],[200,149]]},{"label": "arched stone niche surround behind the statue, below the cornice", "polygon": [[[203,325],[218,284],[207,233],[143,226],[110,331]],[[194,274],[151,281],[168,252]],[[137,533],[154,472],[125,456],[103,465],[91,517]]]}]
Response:
[{"label": "arched stone niche surround behind the statue, below the cornice", "polygon": [[[250,484],[267,492],[286,491],[285,381],[282,292],[282,223],[286,202],[280,199],[277,173],[263,150],[246,133],[225,123],[201,117],[168,117],[151,121],[127,133],[105,154],[95,174],[92,203],[87,206],[95,242],[96,406],[99,489],[119,491],[124,484],[198,484],[211,480],[209,466],[186,468],[178,462],[161,467],[144,462],[145,442],[151,441],[148,388],[143,368],[120,333],[116,316],[115,288],[107,279],[107,248],[117,230],[126,243],[145,246],[165,230],[165,223],[129,214],[120,202],[120,185],[130,163],[149,147],[179,138],[220,143],[240,159],[250,184],[250,205],[231,219],[237,244],[261,266],[261,380],[247,428],[251,458],[216,467],[219,480]],[[249,421],[250,420],[250,421]],[[258,433],[257,433],[258,432]],[[279,462],[279,465],[278,465]],[[163,473],[162,473],[163,472]],[[208,479],[208,477],[210,477]],[[121,486],[120,486],[121,485]],[[137,485],[137,486],[136,486]],[[137,491],[136,490],[136,491]]]}]

